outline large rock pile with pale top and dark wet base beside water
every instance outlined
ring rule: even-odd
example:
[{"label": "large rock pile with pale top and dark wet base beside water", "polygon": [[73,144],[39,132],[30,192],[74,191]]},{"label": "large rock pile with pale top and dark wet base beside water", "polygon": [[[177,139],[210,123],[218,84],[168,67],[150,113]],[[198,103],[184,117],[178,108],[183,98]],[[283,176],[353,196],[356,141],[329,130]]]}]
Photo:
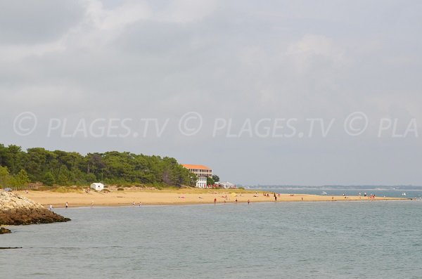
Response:
[{"label": "large rock pile with pale top and dark wet base beside water", "polygon": [[0,192],[0,225],[67,222],[41,204],[15,193]]}]

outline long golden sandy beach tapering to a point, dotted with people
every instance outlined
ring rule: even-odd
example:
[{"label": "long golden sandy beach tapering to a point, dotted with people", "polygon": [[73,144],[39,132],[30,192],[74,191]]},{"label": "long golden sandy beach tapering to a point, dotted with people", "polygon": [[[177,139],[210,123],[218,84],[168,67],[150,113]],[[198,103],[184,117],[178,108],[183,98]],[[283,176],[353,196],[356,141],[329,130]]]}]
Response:
[{"label": "long golden sandy beach tapering to a point, dotted with people", "polygon": [[[84,190],[75,190],[70,193],[58,193],[51,190],[35,191],[27,193],[18,191],[20,195],[30,198],[41,205],[53,205],[53,207],[89,207],[94,206],[136,206],[141,205],[196,205],[224,203],[224,202],[321,202],[321,201],[365,201],[369,197],[359,196],[331,196],[331,195],[303,195],[303,194],[280,194],[277,200],[273,193],[269,197],[263,192],[237,189],[177,189],[177,190],[151,190],[128,188],[125,190],[109,190],[109,192],[86,193]],[[403,200],[397,197],[375,197],[374,200]]]}]

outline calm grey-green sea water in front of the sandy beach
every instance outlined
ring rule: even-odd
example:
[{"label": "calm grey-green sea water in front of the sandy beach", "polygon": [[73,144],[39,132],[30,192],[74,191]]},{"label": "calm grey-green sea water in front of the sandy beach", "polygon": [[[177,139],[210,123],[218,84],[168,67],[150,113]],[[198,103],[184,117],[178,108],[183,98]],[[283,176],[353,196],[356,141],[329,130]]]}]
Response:
[{"label": "calm grey-green sea water in front of the sandy beach", "polygon": [[57,212],[0,235],[0,278],[422,278],[420,201]]}]

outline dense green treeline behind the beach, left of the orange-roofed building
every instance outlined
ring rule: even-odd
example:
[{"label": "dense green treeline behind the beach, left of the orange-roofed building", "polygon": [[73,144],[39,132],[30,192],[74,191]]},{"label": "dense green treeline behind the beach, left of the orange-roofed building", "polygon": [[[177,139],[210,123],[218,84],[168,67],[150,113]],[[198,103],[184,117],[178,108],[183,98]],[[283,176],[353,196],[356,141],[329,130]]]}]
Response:
[{"label": "dense green treeline behind the beach, left of the orange-roofed building", "polygon": [[60,186],[108,184],[193,186],[194,174],[171,157],[136,155],[111,151],[80,155],[61,150],[0,144],[0,185],[42,182]]}]

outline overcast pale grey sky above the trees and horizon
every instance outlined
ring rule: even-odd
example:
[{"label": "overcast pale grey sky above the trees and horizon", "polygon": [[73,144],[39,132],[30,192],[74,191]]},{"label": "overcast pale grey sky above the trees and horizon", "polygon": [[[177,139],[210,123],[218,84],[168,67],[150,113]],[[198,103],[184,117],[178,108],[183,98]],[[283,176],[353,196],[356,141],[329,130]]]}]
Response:
[{"label": "overcast pale grey sky above the trees and horizon", "polygon": [[421,1],[1,1],[0,143],[422,185],[421,27]]}]

